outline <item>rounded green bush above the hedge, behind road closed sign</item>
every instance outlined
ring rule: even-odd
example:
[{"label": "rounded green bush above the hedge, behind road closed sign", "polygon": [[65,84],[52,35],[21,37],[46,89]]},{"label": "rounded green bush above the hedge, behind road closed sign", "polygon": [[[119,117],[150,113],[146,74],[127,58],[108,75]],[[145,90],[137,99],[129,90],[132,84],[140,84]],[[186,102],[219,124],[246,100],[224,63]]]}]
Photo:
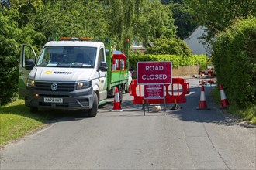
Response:
[{"label": "rounded green bush above the hedge, behind road closed sign", "polygon": [[174,54],[178,56],[191,56],[192,51],[181,39],[156,39],[154,46],[147,48],[148,54]]}]

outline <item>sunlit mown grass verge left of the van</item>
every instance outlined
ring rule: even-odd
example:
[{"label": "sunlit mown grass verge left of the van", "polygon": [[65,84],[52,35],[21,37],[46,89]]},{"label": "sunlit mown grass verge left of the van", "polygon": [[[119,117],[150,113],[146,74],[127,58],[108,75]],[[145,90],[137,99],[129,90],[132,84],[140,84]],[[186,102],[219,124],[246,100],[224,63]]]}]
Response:
[{"label": "sunlit mown grass verge left of the van", "polygon": [[40,128],[47,121],[63,116],[61,114],[43,113],[32,114],[24,105],[24,100],[16,100],[11,104],[0,107],[0,146],[21,138],[30,131]]}]

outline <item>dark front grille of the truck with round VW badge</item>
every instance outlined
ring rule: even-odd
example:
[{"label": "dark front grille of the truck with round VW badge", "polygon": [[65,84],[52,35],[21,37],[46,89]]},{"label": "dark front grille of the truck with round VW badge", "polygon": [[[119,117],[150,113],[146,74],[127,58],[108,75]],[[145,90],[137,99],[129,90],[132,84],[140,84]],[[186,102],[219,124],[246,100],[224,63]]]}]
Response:
[{"label": "dark front grille of the truck with round VW badge", "polygon": [[36,82],[36,90],[44,91],[74,91],[75,83],[57,83],[57,90],[52,90],[52,83]]}]

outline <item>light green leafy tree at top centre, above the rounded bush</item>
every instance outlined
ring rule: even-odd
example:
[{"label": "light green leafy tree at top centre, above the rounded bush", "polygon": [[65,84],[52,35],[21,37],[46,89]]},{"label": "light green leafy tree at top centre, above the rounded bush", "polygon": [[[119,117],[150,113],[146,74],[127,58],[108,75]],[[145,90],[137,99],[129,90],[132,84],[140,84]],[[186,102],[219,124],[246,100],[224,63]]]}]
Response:
[{"label": "light green leafy tree at top centre, above the rounded bush", "polygon": [[134,36],[144,42],[175,37],[176,27],[170,9],[169,5],[162,5],[157,0],[145,1],[139,15],[134,19]]}]

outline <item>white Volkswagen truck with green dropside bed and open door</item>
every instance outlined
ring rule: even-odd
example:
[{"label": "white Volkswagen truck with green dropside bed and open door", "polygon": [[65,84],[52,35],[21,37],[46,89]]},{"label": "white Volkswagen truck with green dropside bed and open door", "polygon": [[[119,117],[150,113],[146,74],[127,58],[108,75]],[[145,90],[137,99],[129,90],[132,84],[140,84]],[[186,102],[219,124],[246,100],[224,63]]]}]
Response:
[{"label": "white Volkswagen truck with green dropside bed and open door", "polygon": [[33,112],[40,107],[86,110],[95,117],[98,106],[114,95],[116,87],[121,99],[127,92],[131,81],[127,56],[112,53],[111,39],[65,37],[47,42],[38,58],[33,47],[24,44],[19,96]]}]

